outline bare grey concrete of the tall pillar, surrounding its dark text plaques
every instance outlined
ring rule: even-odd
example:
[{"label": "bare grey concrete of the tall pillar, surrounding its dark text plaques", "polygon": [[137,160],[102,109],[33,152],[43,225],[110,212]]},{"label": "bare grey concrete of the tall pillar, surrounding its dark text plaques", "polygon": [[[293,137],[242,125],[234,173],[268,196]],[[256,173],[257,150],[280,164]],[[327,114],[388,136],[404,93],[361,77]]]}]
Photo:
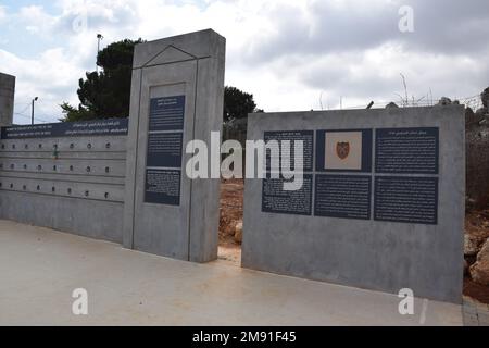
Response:
[{"label": "bare grey concrete of the tall pillar, surrounding its dark text plaques", "polygon": [[138,45],[135,49],[124,246],[160,256],[206,262],[217,258],[220,181],[190,181],[184,154],[180,206],[145,202],[151,98],[185,95],[184,149],[210,144],[222,127],[225,39],[208,29]]}]

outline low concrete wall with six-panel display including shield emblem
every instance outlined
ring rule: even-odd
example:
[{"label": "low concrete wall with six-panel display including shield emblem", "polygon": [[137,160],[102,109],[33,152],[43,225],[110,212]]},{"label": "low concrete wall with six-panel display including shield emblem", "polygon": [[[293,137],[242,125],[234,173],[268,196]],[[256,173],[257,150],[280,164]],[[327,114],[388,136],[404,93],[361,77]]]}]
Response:
[{"label": "low concrete wall with six-panel display including shield emblem", "polygon": [[269,163],[247,179],[243,266],[461,301],[463,107],[252,114],[248,127],[302,139],[304,165],[296,191]]}]

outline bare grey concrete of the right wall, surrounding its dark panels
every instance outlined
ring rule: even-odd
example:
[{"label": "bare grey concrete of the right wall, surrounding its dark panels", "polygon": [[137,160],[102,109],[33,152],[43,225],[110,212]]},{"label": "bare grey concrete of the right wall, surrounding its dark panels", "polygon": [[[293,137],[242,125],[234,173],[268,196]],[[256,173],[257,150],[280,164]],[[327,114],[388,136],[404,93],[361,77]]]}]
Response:
[{"label": "bare grey concrete of the right wall, surrounding its dark panels", "polygon": [[[438,225],[264,213],[262,181],[247,179],[242,265],[248,269],[460,303],[463,281],[463,107],[251,114],[266,130],[439,127]],[[374,149],[375,151],[375,149]]]}]

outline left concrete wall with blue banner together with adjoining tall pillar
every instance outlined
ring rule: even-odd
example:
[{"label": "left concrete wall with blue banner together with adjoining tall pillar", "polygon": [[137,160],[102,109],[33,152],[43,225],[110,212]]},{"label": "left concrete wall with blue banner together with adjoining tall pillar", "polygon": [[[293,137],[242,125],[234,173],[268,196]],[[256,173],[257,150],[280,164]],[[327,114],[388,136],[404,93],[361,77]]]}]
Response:
[{"label": "left concrete wall with blue banner together with adjoining tall pillar", "polygon": [[225,45],[211,29],[137,45],[123,120],[10,126],[1,74],[0,219],[215,260],[220,179],[191,181],[185,150],[222,128]]}]

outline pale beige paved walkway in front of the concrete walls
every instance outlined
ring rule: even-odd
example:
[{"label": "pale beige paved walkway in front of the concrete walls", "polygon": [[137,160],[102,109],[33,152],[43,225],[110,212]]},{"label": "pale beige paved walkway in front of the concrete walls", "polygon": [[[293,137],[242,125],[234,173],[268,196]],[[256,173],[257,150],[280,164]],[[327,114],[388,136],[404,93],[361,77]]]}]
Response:
[{"label": "pale beige paved walkway in front of the concrete walls", "polygon": [[[88,315],[72,293],[88,291]],[[0,325],[462,325],[461,307],[192,264],[0,221]]]}]

